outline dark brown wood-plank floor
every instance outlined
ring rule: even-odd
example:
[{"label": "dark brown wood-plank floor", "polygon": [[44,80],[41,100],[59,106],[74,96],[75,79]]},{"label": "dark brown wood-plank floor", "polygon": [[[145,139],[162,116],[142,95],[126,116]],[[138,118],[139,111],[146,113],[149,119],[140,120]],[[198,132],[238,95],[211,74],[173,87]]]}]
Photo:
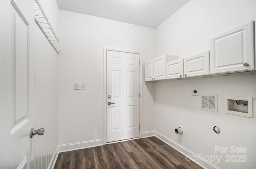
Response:
[{"label": "dark brown wood-plank floor", "polygon": [[59,153],[54,169],[202,169],[156,137]]}]

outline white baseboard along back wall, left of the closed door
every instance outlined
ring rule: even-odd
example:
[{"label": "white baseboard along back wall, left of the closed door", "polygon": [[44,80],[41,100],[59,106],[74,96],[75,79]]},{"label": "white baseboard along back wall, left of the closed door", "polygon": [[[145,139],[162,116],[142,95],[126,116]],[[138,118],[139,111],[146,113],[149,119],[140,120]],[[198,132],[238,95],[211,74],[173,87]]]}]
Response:
[{"label": "white baseboard along back wall, left of the closed door", "polygon": [[84,149],[90,147],[97,147],[103,145],[103,139],[98,140],[89,140],[89,141],[81,141],[77,143],[69,143],[69,144],[62,144],[58,146],[59,153],[65,151],[72,151],[77,149]]}]

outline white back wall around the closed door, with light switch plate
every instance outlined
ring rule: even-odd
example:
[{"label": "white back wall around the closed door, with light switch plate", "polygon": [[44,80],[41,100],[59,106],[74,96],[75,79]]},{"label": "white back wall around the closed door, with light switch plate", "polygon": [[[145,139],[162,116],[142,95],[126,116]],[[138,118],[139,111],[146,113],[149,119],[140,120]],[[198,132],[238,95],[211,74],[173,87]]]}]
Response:
[{"label": "white back wall around the closed door, with light switch plate", "polygon": [[[145,63],[155,57],[154,29],[65,10],[58,27],[58,144],[102,139],[104,46],[142,51]],[[142,129],[154,130],[154,84],[143,83],[143,98]]]}]

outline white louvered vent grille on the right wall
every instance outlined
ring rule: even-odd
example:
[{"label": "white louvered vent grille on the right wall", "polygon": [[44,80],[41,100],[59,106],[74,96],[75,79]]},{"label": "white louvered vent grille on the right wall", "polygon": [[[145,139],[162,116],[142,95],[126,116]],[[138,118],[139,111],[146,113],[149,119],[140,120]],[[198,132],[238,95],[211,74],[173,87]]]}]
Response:
[{"label": "white louvered vent grille on the right wall", "polygon": [[202,94],[201,95],[201,110],[218,112],[217,109],[217,94]]}]

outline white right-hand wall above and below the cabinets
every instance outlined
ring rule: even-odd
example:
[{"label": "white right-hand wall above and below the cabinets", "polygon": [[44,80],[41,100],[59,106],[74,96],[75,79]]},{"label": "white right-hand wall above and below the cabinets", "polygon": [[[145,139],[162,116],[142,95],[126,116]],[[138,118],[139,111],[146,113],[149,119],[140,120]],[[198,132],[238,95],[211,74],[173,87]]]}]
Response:
[{"label": "white right-hand wall above and below the cabinets", "polygon": [[[156,55],[196,55],[210,49],[209,37],[256,19],[256,1],[192,0],[156,28]],[[147,84],[147,83],[146,83]],[[192,96],[191,88],[200,93],[218,94],[218,113],[200,110],[200,97]],[[234,75],[202,79],[162,81],[155,83],[156,131],[184,146],[205,155],[222,155],[222,169],[252,169],[256,166],[256,103],[254,118],[224,113],[224,96],[253,96],[256,75]],[[181,126],[182,135],[174,133]],[[215,134],[213,126],[220,127]],[[214,146],[246,147],[246,163],[226,163],[225,153],[215,153]],[[231,154],[231,155],[242,155]]]}]

